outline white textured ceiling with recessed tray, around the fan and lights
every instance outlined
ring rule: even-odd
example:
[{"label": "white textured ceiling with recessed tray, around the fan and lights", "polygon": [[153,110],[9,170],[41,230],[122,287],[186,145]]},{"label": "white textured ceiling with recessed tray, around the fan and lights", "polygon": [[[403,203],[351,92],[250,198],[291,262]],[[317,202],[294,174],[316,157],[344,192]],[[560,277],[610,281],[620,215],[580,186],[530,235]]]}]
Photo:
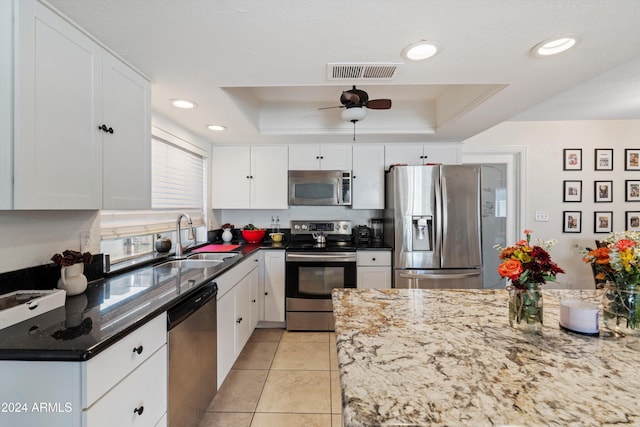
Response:
[{"label": "white textured ceiling with recessed tray, around the fan and lights", "polygon": [[[514,118],[640,118],[637,0],[49,2],[151,78],[155,111],[215,143],[351,142],[341,110],[318,107],[340,105],[354,84],[393,100],[368,111],[358,141],[461,141]],[[530,54],[568,33],[580,41],[566,54]],[[421,39],[441,51],[404,61]],[[354,62],[401,65],[390,80],[327,78],[327,64]]]}]

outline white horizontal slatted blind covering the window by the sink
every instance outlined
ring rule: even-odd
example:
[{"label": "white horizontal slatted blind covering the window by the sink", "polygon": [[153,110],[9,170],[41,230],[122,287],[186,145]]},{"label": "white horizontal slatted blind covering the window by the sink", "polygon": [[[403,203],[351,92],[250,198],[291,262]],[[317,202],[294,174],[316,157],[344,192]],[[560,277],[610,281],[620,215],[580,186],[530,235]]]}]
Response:
[{"label": "white horizontal slatted blind covering the window by the sink", "polygon": [[[175,138],[175,137],[174,137]],[[103,240],[175,230],[181,212],[194,226],[205,224],[205,157],[184,141],[151,141],[150,211],[101,211]]]}]

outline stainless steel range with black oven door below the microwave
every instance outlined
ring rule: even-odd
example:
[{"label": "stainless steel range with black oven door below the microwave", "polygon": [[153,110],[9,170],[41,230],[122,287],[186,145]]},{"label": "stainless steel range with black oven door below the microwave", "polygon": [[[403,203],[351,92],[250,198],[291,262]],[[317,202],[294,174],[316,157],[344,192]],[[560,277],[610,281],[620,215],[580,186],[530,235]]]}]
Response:
[{"label": "stainless steel range with black oven door below the microwave", "polygon": [[286,254],[287,330],[333,331],[333,288],[356,287],[351,221],[291,221]]}]

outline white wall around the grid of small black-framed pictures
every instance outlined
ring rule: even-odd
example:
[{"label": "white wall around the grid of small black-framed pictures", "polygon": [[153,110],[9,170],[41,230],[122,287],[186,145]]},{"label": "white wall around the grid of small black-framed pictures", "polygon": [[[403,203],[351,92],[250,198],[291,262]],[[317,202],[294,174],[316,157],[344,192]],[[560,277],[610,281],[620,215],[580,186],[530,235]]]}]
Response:
[{"label": "white wall around the grid of small black-framed pictures", "polygon": [[[594,246],[607,234],[593,232],[594,211],[613,211],[613,230],[625,228],[625,211],[640,210],[639,203],[625,202],[625,180],[640,179],[639,172],[624,170],[624,149],[640,148],[640,120],[505,122],[465,141],[463,150],[481,147],[526,147],[524,227],[533,237],[557,239],[551,255],[567,274],[560,287],[593,288],[589,265],[581,261],[573,245]],[[563,171],[564,148],[582,148],[582,171]],[[594,149],[614,150],[614,170],[594,171]],[[582,202],[563,202],[563,181],[582,180]],[[594,203],[594,181],[613,181],[613,202]],[[563,233],[563,211],[582,211],[582,232]],[[549,212],[549,222],[536,222],[535,211]],[[487,254],[485,254],[487,256]]]}]

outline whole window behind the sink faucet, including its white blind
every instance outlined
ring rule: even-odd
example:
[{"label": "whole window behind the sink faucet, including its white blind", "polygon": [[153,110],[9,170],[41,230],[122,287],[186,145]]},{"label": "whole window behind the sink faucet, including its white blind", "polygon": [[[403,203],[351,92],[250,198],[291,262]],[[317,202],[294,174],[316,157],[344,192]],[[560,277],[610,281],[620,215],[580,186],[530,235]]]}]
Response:
[{"label": "whole window behind the sink faucet, including its white blind", "polygon": [[[205,165],[204,150],[154,128],[151,210],[100,212],[101,251],[110,255],[112,263],[152,253],[157,234],[175,244],[176,218],[181,212],[205,232]],[[183,244],[186,236],[185,230]]]}]

